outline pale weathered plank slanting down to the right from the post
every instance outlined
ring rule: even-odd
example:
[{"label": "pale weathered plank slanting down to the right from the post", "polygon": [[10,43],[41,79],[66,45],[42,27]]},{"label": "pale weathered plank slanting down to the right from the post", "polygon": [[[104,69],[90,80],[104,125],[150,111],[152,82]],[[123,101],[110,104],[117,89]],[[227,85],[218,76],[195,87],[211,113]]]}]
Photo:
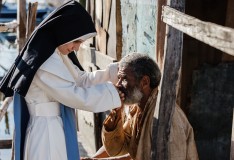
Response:
[{"label": "pale weathered plank slanting down to the right from the post", "polygon": [[234,56],[234,29],[201,21],[169,6],[163,7],[162,17],[166,24]]}]

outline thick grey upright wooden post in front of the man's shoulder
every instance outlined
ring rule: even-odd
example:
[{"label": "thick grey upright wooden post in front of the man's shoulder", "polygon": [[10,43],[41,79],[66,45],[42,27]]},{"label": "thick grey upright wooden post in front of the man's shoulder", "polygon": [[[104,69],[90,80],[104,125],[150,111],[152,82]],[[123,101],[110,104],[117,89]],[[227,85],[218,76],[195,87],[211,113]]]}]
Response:
[{"label": "thick grey upright wooden post in front of the man's shoulder", "polygon": [[[182,12],[185,8],[184,0],[168,0],[167,5]],[[182,46],[183,33],[166,26],[163,74],[159,89],[161,98],[157,101],[153,121],[151,159],[168,159],[171,118],[175,109],[176,92],[182,65]],[[158,111],[157,108],[159,108]]]}]

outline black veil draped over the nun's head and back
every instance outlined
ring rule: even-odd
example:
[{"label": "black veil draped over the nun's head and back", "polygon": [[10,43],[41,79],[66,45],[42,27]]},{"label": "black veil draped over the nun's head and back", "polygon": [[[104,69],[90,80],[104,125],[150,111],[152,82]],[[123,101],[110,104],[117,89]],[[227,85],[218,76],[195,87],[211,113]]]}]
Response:
[{"label": "black veil draped over the nun's head and back", "polygon": [[14,91],[25,96],[36,71],[59,45],[95,32],[90,15],[78,2],[65,3],[53,11],[32,33],[0,82],[0,91],[6,97],[12,96]]}]

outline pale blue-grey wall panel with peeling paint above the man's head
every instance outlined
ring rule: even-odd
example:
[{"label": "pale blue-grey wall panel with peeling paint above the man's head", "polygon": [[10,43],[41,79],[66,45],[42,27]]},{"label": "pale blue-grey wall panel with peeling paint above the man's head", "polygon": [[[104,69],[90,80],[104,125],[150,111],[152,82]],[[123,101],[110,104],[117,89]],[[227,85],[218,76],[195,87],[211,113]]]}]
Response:
[{"label": "pale blue-grey wall panel with peeling paint above the man's head", "polygon": [[147,53],[156,59],[156,1],[121,0],[123,54]]}]

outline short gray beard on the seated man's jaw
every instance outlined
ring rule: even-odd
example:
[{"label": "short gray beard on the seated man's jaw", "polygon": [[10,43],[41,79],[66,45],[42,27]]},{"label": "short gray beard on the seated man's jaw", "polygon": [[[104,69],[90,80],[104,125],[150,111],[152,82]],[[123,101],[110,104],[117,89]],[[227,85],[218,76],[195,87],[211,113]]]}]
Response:
[{"label": "short gray beard on the seated man's jaw", "polygon": [[139,103],[142,97],[143,93],[141,93],[139,88],[134,87],[134,89],[131,92],[128,92],[128,95],[125,97],[124,104],[131,105]]}]

